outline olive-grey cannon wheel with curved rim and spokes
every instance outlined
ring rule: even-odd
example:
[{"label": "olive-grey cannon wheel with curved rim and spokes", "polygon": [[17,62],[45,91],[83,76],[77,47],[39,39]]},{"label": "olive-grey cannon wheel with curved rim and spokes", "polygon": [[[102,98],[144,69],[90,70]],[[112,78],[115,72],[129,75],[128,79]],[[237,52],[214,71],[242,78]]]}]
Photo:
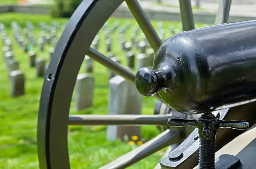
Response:
[{"label": "olive-grey cannon wheel with curved rim and spokes", "polygon": [[[134,82],[134,74],[113,62],[96,50],[90,48],[92,40],[103,24],[112,15],[123,0],[84,0],[70,18],[59,42],[56,45],[51,62],[46,71],[38,112],[38,159],[40,169],[69,169],[68,125],[114,125],[114,124],[151,124],[166,125],[168,116],[151,115],[120,116],[108,115],[70,115],[69,108],[72,92],[84,59],[84,55],[100,62],[125,79]],[[183,30],[194,29],[194,20],[190,0],[179,0]],[[137,0],[126,0],[138,25],[146,35],[151,47],[156,52],[161,45],[156,31]],[[225,23],[231,0],[221,1],[216,16],[217,23]],[[96,21],[96,22],[95,22]],[[158,99],[159,96],[156,95]],[[86,119],[87,121],[85,122]],[[148,155],[173,143],[173,132],[169,129],[133,152],[110,162],[102,169],[125,168]]]}]

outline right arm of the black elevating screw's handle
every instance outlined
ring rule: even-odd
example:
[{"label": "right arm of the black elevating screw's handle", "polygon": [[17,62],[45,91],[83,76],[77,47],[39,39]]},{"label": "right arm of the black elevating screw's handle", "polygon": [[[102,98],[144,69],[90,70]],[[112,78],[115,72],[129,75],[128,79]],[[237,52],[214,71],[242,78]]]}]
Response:
[{"label": "right arm of the black elevating screw's handle", "polygon": [[232,120],[232,121],[220,120],[219,126],[220,128],[228,127],[232,129],[246,130],[249,128],[249,123],[243,120]]}]

